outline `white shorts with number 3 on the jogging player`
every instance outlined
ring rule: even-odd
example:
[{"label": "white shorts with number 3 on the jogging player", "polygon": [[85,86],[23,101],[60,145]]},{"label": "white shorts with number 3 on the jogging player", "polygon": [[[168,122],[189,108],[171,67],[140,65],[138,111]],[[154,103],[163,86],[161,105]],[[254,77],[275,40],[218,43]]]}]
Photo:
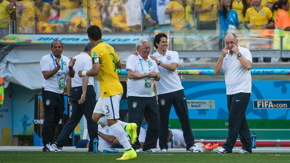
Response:
[{"label": "white shorts with number 3 on the jogging player", "polygon": [[94,113],[104,114],[106,119],[119,119],[119,107],[122,95],[100,97],[95,106]]}]

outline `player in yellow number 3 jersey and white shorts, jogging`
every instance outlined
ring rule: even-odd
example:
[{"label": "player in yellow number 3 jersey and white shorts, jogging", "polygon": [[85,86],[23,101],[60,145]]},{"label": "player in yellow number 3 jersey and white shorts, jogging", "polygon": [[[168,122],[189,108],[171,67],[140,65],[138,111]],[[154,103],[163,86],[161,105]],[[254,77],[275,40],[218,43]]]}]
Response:
[{"label": "player in yellow number 3 jersey and white shorts, jogging", "polygon": [[117,68],[121,68],[121,62],[114,48],[103,42],[100,27],[92,25],[87,30],[88,38],[94,48],[91,51],[93,67],[89,71],[79,71],[78,76],[96,76],[101,86],[101,97],[95,106],[92,119],[94,122],[110,126],[120,144],[126,150],[117,160],[130,160],[137,157],[136,152],[129,143],[124,129],[128,132],[132,144],[137,137],[137,124],[118,121],[119,104],[123,95],[123,87],[119,81]]}]

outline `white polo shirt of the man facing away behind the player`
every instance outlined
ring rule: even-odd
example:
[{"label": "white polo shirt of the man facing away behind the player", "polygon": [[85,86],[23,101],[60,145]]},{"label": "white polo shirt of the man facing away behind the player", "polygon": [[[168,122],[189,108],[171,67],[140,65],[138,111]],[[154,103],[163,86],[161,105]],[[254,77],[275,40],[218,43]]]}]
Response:
[{"label": "white polo shirt of the man facing away behind the player", "polygon": [[[76,74],[72,78],[72,87],[82,86],[83,77],[78,76],[78,71],[90,70],[93,67],[92,58],[87,53],[83,52],[73,58],[76,59],[76,62],[73,66],[73,69],[76,72]],[[89,77],[88,86],[89,85],[94,86],[94,77]]]}]

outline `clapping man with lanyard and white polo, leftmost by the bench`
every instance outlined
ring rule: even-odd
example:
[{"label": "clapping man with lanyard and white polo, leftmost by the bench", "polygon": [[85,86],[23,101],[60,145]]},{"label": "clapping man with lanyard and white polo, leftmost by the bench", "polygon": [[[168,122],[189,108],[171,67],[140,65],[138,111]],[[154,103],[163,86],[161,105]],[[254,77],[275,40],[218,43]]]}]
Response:
[{"label": "clapping man with lanyard and white polo, leftmost by the bench", "polygon": [[44,120],[42,126],[42,151],[59,151],[53,142],[55,128],[65,110],[63,89],[66,87],[67,75],[74,77],[73,65],[75,59],[61,55],[63,44],[55,40],[51,44],[51,53],[40,60],[41,72],[44,77],[42,88],[42,102]]}]

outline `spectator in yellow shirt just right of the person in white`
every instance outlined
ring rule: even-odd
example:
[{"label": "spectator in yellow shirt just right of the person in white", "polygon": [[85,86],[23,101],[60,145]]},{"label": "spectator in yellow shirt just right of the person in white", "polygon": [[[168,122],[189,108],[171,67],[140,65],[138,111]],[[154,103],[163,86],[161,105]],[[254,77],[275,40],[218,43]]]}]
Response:
[{"label": "spectator in yellow shirt just right of the person in white", "polygon": [[173,31],[178,31],[183,28],[187,28],[188,23],[185,18],[185,0],[174,0],[169,2],[165,9],[165,14],[171,14],[171,25]]}]

